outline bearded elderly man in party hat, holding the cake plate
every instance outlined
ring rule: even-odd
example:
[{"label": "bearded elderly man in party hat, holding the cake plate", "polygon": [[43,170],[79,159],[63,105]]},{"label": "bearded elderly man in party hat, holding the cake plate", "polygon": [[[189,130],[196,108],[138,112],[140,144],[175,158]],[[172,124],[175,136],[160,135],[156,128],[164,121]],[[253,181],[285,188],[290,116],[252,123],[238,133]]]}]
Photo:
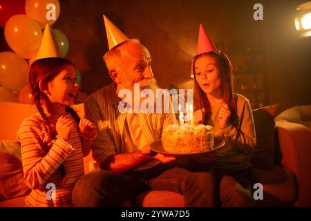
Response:
[{"label": "bearded elderly man in party hat, holding the cake plate", "polygon": [[118,110],[122,100],[118,97],[120,90],[133,91],[136,83],[140,88],[152,89],[155,81],[147,48],[138,40],[127,39],[106,17],[104,19],[107,37],[111,39],[104,61],[113,84],[98,90],[84,104],[86,116],[98,126],[92,150],[99,170],[78,180],[73,204],[118,206],[153,189],[184,195],[185,206],[214,206],[210,173],[193,172],[192,160],[176,160],[149,148],[149,144],[160,139],[163,128],[177,123],[175,115],[120,113]]}]

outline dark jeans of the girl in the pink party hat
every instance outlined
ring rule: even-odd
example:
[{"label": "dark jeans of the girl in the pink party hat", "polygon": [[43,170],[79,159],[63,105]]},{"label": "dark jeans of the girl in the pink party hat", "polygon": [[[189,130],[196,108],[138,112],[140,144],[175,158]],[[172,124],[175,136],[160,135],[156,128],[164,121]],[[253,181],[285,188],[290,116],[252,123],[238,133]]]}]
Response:
[{"label": "dark jeans of the girl in the pink party hat", "polygon": [[214,169],[216,205],[228,207],[254,206],[252,198],[252,169],[227,173]]}]

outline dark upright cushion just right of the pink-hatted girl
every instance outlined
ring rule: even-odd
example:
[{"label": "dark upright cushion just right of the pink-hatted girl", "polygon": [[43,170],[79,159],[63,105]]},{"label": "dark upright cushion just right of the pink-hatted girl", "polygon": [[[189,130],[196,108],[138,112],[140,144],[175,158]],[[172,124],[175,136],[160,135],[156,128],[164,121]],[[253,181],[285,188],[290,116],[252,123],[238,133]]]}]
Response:
[{"label": "dark upright cushion just right of the pink-hatted girl", "polygon": [[257,148],[251,162],[256,168],[271,169],[274,153],[274,115],[279,104],[265,106],[252,111],[256,130]]}]

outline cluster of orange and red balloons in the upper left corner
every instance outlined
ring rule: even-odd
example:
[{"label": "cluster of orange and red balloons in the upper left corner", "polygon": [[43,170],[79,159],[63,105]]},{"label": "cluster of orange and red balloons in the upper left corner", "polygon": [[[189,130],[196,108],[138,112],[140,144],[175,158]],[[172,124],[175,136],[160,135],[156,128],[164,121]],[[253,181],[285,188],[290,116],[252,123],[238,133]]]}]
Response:
[{"label": "cluster of orange and red balloons in the upper left corner", "polygon": [[[28,84],[29,61],[34,59],[42,40],[42,28],[59,17],[58,0],[2,0],[0,27],[13,52],[0,52],[0,102],[33,104]],[[68,39],[52,28],[63,57],[68,52]],[[2,32],[1,32],[2,34]],[[3,36],[0,36],[2,41]]]}]

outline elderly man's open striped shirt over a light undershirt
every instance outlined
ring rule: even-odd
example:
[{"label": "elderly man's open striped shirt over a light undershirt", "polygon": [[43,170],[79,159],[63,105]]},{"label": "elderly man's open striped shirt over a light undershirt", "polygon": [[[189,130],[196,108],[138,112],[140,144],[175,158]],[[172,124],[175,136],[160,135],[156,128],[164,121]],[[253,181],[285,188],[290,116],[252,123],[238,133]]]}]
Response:
[{"label": "elderly man's open striped shirt over a light undershirt", "polygon": [[[92,145],[94,166],[97,169],[110,155],[126,153],[123,136],[126,113],[119,112],[118,104],[119,98],[113,84],[97,90],[84,102],[86,117],[98,126],[97,137]],[[144,113],[136,116],[149,144],[161,138],[163,128],[177,123],[173,113]]]}]

